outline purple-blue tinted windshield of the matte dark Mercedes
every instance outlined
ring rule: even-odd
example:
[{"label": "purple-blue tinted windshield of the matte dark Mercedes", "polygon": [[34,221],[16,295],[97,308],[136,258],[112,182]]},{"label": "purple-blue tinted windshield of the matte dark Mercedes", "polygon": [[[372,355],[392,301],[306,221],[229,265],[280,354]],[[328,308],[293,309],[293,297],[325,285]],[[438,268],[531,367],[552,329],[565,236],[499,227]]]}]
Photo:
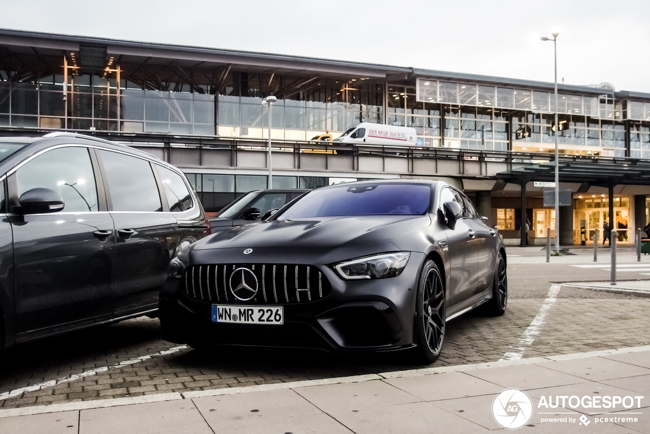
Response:
[{"label": "purple-blue tinted windshield of the matte dark Mercedes", "polygon": [[431,188],[415,183],[363,183],[318,189],[304,195],[278,220],[345,215],[422,215]]}]

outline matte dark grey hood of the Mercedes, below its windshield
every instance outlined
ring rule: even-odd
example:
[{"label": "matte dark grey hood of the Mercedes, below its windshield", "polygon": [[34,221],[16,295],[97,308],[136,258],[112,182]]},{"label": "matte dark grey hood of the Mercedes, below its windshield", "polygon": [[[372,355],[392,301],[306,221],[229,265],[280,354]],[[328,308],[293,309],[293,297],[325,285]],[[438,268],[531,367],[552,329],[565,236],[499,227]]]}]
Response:
[{"label": "matte dark grey hood of the Mercedes, below its windshield", "polygon": [[368,215],[263,221],[218,228],[192,250],[231,247],[293,247],[332,249],[381,242],[425,228],[428,215]]}]

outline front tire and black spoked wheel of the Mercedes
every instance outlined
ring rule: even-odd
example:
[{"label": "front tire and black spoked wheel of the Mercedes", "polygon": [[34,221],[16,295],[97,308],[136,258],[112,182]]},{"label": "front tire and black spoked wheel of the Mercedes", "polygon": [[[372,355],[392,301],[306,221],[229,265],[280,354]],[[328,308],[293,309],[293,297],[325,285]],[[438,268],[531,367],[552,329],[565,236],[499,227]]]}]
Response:
[{"label": "front tire and black spoked wheel of the Mercedes", "polygon": [[432,260],[422,266],[415,301],[415,354],[419,361],[433,363],[445,340],[445,286]]}]

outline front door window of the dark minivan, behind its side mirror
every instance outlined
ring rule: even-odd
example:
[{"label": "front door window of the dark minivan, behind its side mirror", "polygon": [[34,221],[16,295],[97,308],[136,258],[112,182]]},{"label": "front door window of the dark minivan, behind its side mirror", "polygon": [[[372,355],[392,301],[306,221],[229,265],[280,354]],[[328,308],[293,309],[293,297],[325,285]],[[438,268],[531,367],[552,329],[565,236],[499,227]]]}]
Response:
[{"label": "front door window of the dark minivan, behind its side mirror", "polygon": [[95,172],[87,148],[59,148],[41,154],[16,170],[16,184],[18,197],[34,188],[47,188],[61,195],[63,211],[98,211]]}]

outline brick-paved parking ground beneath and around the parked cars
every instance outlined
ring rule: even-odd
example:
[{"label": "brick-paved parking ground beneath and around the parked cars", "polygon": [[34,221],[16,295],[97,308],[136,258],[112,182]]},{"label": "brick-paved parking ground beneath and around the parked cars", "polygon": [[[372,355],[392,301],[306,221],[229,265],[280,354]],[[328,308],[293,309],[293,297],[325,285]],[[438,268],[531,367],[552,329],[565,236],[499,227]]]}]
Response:
[{"label": "brick-paved parking ground beneath and around the parked cars", "polygon": [[[627,256],[626,252],[623,249],[621,263],[650,268],[650,257],[636,264],[633,251]],[[595,267],[578,266],[593,265],[591,251],[552,258],[551,264],[543,262],[545,253],[537,247],[510,248],[508,254],[506,314],[490,318],[476,312],[450,321],[443,353],[434,366],[491,362],[508,354],[536,357],[650,343],[650,298],[566,287],[549,296],[556,282],[607,280],[608,252],[601,252]],[[640,266],[619,273],[625,276],[619,278],[649,280],[650,275],[643,273],[650,271]],[[537,325],[531,328],[533,322]],[[164,342],[159,334],[157,319],[137,318],[9,349],[0,355],[0,409],[424,367],[409,362],[403,352],[205,352]]]}]

